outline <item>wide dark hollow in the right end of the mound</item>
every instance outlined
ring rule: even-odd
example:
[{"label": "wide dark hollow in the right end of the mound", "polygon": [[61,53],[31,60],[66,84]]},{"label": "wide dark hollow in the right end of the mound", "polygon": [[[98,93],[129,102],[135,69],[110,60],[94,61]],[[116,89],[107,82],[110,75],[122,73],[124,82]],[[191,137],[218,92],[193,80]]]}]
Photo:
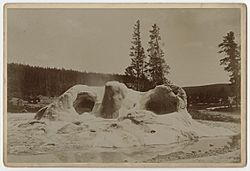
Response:
[{"label": "wide dark hollow in the right end of the mound", "polygon": [[166,113],[172,113],[177,111],[176,102],[162,102],[162,101],[149,101],[146,105],[146,109],[156,114],[162,115]]}]

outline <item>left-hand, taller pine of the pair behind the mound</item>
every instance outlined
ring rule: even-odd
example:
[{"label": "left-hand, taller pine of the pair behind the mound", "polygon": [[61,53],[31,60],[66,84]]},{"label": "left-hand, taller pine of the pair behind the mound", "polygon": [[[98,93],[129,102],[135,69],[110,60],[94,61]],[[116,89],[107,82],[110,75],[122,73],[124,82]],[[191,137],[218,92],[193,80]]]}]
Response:
[{"label": "left-hand, taller pine of the pair behind the mound", "polygon": [[146,63],[145,63],[145,53],[141,44],[141,35],[140,35],[140,20],[136,21],[134,25],[134,32],[132,37],[132,46],[130,48],[131,64],[125,70],[125,74],[134,78],[134,84],[136,90],[140,90],[143,86],[143,80],[146,78]]}]

